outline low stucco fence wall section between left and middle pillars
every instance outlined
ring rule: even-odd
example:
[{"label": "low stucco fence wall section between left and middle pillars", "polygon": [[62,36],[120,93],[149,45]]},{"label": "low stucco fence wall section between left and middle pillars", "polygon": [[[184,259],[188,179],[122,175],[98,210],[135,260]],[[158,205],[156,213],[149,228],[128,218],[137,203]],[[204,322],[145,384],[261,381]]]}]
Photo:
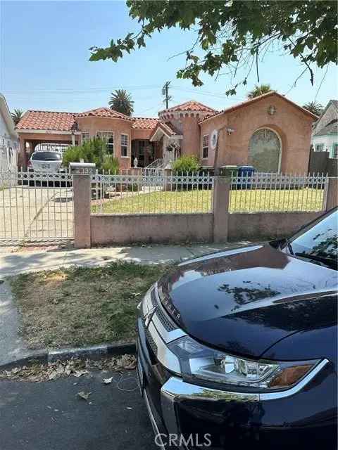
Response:
[{"label": "low stucco fence wall section between left and middle pillars", "polygon": [[211,242],[213,214],[92,214],[92,245]]}]

